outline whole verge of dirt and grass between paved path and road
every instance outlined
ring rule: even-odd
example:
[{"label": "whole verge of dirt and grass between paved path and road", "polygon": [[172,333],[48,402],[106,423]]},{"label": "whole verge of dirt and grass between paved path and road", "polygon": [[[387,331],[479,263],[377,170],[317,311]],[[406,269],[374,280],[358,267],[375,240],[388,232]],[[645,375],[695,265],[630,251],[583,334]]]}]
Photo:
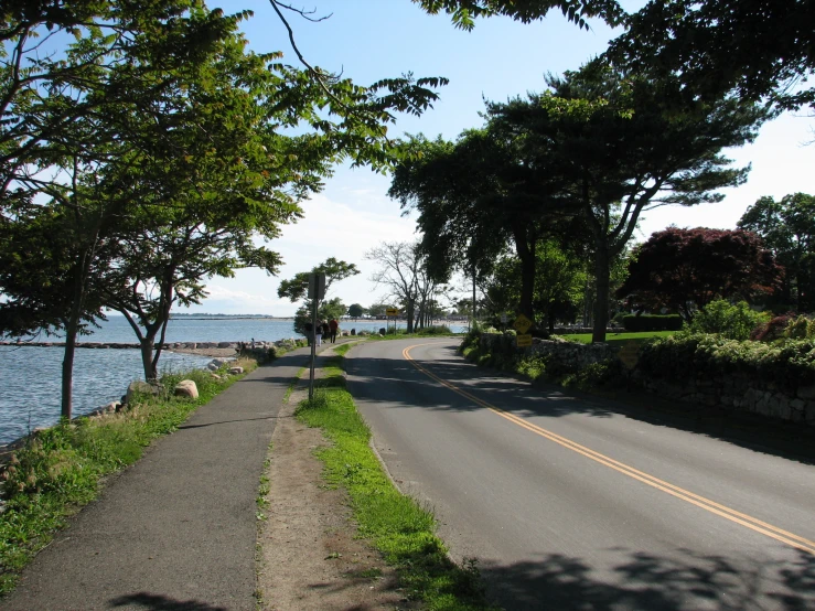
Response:
[{"label": "whole verge of dirt and grass between paved path and road", "polygon": [[313,400],[305,372],[275,430],[259,503],[260,607],[493,610],[478,575],[450,560],[433,516],[383,470],[333,352],[318,360]]}]

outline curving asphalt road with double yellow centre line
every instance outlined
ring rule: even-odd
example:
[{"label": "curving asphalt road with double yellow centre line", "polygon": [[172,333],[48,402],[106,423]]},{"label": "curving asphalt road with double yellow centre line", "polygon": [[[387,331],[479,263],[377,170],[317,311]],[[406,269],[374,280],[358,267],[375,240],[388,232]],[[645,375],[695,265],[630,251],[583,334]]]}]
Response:
[{"label": "curving asphalt road with double yellow centre line", "polygon": [[815,465],[533,388],[457,345],[366,343],[348,388],[506,609],[815,609]]}]

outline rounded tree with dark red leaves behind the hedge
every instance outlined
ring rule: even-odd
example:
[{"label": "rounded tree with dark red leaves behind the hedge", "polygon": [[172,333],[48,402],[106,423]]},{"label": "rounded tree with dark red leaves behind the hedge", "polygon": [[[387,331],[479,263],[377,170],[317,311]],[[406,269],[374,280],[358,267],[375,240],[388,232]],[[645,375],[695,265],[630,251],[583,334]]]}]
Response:
[{"label": "rounded tree with dark red leaves behind the hedge", "polygon": [[668,227],[634,250],[616,296],[636,308],[667,308],[690,320],[715,299],[753,301],[772,293],[783,274],[752,232]]}]

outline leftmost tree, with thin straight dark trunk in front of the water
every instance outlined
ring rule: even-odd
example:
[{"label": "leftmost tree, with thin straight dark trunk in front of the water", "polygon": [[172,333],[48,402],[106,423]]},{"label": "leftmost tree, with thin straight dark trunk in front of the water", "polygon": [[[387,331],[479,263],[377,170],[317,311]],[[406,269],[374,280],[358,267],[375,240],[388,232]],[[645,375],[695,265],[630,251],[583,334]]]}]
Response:
[{"label": "leftmost tree, with thin straight dark trunk in front of the water", "polygon": [[[68,418],[76,335],[101,315],[99,294],[90,292],[103,283],[114,250],[109,232],[122,214],[121,201],[98,197],[97,172],[122,150],[118,114],[109,109],[132,94],[122,75],[160,95],[174,83],[173,68],[200,61],[234,25],[221,12],[187,19],[193,4],[9,2],[0,12],[0,218],[22,238],[56,223],[60,239],[71,244],[44,248],[35,272],[4,282],[2,308],[20,311],[36,294],[29,320],[64,330],[62,415]],[[66,37],[73,42],[64,45]],[[148,57],[161,57],[160,67]],[[2,257],[24,257],[26,250],[14,250],[22,244],[6,240]],[[57,286],[61,294],[50,290]]]}]

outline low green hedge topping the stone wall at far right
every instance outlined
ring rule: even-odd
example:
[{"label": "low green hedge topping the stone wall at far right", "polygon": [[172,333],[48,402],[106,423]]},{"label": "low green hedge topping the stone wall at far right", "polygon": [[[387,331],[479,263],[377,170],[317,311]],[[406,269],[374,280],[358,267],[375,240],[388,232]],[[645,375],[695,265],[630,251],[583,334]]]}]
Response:
[{"label": "low green hedge topping the stone wall at far right", "polygon": [[637,368],[647,377],[679,384],[688,378],[737,374],[789,390],[815,384],[815,340],[766,344],[680,334],[644,345]]}]

